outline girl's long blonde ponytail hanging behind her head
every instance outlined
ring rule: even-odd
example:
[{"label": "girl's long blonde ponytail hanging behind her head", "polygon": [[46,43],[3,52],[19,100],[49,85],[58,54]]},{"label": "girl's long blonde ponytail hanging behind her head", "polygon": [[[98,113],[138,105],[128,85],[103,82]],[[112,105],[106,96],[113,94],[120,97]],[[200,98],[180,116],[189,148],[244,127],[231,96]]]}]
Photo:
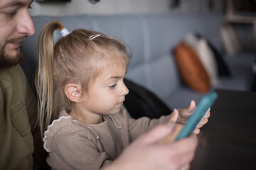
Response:
[{"label": "girl's long blonde ponytail hanging behind her head", "polygon": [[50,125],[53,115],[53,33],[63,30],[58,21],[48,23],[38,38],[38,68],[36,71],[36,91],[38,94],[38,120],[43,136],[44,130]]}]

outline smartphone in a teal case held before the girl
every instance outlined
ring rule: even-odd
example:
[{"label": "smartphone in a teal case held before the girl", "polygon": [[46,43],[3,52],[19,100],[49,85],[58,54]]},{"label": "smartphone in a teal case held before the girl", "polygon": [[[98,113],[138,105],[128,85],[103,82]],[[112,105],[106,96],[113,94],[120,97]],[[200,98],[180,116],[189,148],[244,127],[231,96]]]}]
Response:
[{"label": "smartphone in a teal case held before the girl", "polygon": [[188,121],[185,123],[183,129],[181,130],[181,132],[179,132],[178,136],[176,137],[176,140],[180,140],[183,137],[187,137],[193,132],[193,130],[196,129],[196,126],[198,126],[201,120],[203,120],[208,111],[210,111],[210,106],[213,105],[217,97],[218,94],[213,91],[203,96],[203,98],[201,98],[195,111],[193,112],[191,117],[188,118]]}]

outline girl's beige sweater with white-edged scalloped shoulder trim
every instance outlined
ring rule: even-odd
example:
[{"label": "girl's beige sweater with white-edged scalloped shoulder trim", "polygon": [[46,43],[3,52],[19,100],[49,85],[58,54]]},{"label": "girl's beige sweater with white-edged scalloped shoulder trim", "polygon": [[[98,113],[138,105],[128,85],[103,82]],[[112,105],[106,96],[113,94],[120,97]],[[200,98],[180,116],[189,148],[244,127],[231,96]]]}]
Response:
[{"label": "girl's beige sweater with white-edged scalloped shoulder trim", "polygon": [[91,125],[75,120],[65,111],[60,113],[60,118],[48,127],[43,139],[49,152],[47,163],[52,169],[101,169],[111,164],[139,135],[167,123],[169,116],[134,120],[122,108],[115,115],[104,115],[103,120]]}]

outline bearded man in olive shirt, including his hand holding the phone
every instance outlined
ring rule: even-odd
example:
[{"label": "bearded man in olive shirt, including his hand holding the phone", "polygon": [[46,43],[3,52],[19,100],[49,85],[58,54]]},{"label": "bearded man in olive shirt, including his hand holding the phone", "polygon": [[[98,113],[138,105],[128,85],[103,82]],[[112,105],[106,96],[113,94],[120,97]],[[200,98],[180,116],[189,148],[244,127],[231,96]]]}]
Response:
[{"label": "bearded man in olive shirt, including his hand holding the phone", "polygon": [[[47,155],[42,152],[42,140],[36,128],[36,97],[18,64],[23,59],[21,42],[35,33],[28,13],[32,2],[0,0],[0,169],[32,169],[33,156],[41,165],[46,165]],[[162,125],[143,135],[127,147],[109,169],[148,169],[149,164],[151,169],[157,169],[156,165],[166,169],[171,169],[171,166],[186,168],[193,159],[196,137],[157,144],[172,129],[169,125]],[[148,157],[134,159],[144,151]]]}]

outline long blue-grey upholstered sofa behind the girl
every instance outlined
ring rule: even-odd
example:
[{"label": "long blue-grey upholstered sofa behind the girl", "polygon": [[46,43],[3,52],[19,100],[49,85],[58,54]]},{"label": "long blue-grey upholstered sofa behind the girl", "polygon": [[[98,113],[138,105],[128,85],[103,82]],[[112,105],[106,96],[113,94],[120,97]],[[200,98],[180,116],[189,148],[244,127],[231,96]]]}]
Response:
[{"label": "long blue-grey upholstered sofa behind the girl", "polygon": [[231,77],[220,77],[220,84],[212,89],[235,89],[249,91],[252,84],[252,52],[227,57],[223,52],[219,29],[224,16],[213,15],[140,15],[140,16],[34,16],[36,35],[22,44],[25,55],[23,67],[33,86],[36,69],[37,36],[49,21],[60,20],[68,30],[86,28],[99,30],[129,45],[132,60],[127,69],[127,79],[146,87],[170,108],[184,108],[189,101],[198,101],[204,94],[193,91],[181,80],[171,50],[187,33],[196,32],[208,38],[223,54]]}]

